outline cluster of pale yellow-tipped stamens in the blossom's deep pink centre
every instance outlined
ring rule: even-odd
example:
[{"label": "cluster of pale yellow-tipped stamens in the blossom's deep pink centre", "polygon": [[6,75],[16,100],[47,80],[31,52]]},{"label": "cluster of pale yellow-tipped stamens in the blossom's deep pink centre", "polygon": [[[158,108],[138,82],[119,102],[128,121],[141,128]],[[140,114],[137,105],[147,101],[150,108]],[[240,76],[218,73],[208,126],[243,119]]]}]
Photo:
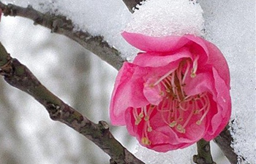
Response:
[{"label": "cluster of pale yellow-tipped stamens in the blossom's deep pink centre", "polygon": [[135,125],[139,125],[142,120],[145,122],[141,138],[142,144],[151,144],[148,133],[153,130],[151,127],[151,114],[153,112],[158,112],[162,121],[178,133],[186,133],[187,125],[200,125],[203,122],[210,109],[208,94],[203,92],[197,95],[186,95],[184,92],[186,86],[184,82],[189,72],[190,77],[196,77],[197,60],[198,57],[192,64],[189,60],[181,61],[178,69],[167,72],[151,84],[153,87],[157,86],[159,95],[163,96],[158,105],[149,104],[142,108],[133,109]]}]

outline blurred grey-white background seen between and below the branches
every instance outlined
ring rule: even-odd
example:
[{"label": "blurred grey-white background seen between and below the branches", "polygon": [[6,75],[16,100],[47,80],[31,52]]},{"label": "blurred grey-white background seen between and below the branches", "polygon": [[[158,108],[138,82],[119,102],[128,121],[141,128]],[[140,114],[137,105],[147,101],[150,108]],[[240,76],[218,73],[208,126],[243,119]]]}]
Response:
[{"label": "blurred grey-white background seen between and below the branches", "polygon": [[[34,75],[93,122],[109,122],[108,106],[117,71],[65,36],[33,26],[31,20],[2,17],[0,42]],[[111,127],[113,135],[132,152],[138,147],[125,127]],[[214,159],[226,164],[217,147]],[[34,98],[0,78],[0,163],[109,163],[91,141],[61,122]]]}]

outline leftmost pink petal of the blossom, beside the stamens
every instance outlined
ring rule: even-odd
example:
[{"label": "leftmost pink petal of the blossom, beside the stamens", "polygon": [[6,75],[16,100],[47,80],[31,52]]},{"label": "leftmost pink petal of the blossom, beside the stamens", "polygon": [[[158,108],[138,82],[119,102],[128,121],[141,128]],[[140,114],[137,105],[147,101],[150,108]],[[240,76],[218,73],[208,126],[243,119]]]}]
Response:
[{"label": "leftmost pink petal of the blossom, beside the stamens", "polygon": [[129,107],[148,104],[143,95],[145,69],[125,62],[118,75],[110,101],[110,120],[113,125],[125,125],[124,112]]}]

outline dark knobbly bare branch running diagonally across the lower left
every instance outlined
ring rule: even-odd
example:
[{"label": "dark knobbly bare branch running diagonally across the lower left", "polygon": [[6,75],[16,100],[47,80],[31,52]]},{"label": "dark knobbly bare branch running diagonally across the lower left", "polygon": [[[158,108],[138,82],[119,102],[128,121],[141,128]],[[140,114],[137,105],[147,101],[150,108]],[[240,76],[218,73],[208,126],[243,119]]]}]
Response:
[{"label": "dark knobbly bare branch running diagonally across the lower left", "polygon": [[74,130],[89,138],[94,144],[97,144],[106,152],[116,163],[143,163],[125,149],[109,131],[108,124],[105,121],[99,121],[98,124],[91,122],[83,117],[75,109],[64,104],[61,99],[53,95],[45,86],[43,86],[36,77],[23,66],[17,59],[11,58],[0,42],[0,74],[4,80],[17,87],[23,92],[29,93],[50,114],[52,120],[63,122]]}]

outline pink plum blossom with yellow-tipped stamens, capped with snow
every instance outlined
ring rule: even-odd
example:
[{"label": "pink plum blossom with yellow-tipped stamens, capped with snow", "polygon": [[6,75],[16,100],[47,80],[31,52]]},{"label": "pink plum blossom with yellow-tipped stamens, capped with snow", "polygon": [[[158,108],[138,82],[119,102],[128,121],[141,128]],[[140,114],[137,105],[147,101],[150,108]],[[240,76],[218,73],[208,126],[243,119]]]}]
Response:
[{"label": "pink plum blossom with yellow-tipped stamens, capped with snow", "polygon": [[157,152],[215,138],[230,120],[230,73],[222,52],[194,36],[124,32],[140,52],[118,72],[110,102],[113,125],[126,125]]}]

